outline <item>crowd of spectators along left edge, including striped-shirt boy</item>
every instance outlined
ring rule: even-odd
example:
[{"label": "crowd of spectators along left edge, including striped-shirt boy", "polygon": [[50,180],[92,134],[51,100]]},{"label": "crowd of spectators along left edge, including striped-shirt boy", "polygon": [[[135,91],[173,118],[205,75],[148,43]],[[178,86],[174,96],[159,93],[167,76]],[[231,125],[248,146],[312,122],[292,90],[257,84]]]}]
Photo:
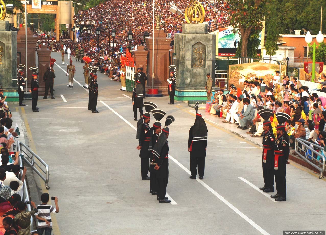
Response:
[{"label": "crowd of spectators along left edge, including striped-shirt boy", "polygon": [[[31,201],[34,208],[26,210],[23,201],[23,182],[26,167],[19,165],[19,152],[15,151],[14,137],[19,135],[12,128],[12,113],[0,89],[0,235],[30,235],[31,216],[38,219],[37,231],[32,235],[51,235],[52,220],[50,213],[59,212],[58,199],[54,198],[55,208],[48,205],[49,194],[41,196],[41,204]],[[22,175],[20,171],[22,170]]]}]

